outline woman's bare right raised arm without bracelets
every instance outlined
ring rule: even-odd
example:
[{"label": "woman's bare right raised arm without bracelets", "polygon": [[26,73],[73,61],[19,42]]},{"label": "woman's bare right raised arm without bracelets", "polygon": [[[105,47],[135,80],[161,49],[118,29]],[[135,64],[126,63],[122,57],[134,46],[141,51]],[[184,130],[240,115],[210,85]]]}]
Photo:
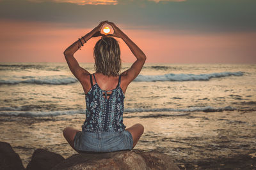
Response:
[{"label": "woman's bare right raised arm without bracelets", "polygon": [[131,83],[134,78],[138,76],[140,73],[145,60],[147,59],[145,53],[127,36],[122,32],[113,22],[108,22],[114,29],[114,33],[110,34],[110,36],[115,36],[117,38],[122,38],[124,42],[129,46],[131,52],[136,57],[136,61],[132,64],[132,66],[122,73],[125,76],[125,80],[127,80],[127,84]]}]

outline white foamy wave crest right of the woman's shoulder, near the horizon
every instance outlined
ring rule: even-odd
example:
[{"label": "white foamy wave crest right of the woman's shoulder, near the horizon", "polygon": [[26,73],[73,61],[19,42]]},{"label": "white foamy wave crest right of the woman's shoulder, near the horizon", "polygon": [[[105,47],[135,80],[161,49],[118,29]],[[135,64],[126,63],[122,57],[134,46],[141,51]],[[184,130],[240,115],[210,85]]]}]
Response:
[{"label": "white foamy wave crest right of the woman's shoulder, near the horizon", "polygon": [[207,81],[211,78],[221,78],[226,76],[243,76],[243,73],[241,71],[238,71],[210,74],[163,74],[157,76],[139,75],[137,78],[135,78],[134,81]]}]

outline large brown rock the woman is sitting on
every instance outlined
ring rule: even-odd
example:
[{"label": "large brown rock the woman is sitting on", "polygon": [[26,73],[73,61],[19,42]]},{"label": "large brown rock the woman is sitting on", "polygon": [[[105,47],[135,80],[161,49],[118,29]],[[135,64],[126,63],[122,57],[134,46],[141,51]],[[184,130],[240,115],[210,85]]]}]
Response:
[{"label": "large brown rock the woman is sitting on", "polygon": [[179,169],[169,155],[142,150],[108,153],[78,153],[60,162],[52,170],[64,169]]}]

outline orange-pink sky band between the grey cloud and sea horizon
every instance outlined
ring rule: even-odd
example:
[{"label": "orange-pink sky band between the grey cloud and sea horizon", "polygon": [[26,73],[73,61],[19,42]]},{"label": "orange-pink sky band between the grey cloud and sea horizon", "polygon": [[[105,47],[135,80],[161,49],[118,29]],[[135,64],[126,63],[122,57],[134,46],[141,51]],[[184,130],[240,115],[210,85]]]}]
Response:
[{"label": "orange-pink sky band between the grey cloud and sea horizon", "polygon": [[[0,62],[65,62],[63,51],[91,28],[75,29],[53,22],[0,21]],[[118,25],[118,23],[116,23]],[[95,25],[96,26],[96,25]],[[118,25],[120,29],[127,25]],[[147,55],[147,62],[255,63],[255,32],[191,33],[175,30],[123,29]],[[122,39],[121,57],[135,57]],[[90,39],[75,54],[79,62],[93,62]]]}]

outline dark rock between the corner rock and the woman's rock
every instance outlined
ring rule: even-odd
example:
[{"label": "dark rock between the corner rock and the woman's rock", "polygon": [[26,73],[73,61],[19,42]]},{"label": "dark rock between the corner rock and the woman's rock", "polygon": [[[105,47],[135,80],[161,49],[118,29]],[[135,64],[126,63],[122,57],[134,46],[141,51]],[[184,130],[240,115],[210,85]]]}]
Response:
[{"label": "dark rock between the corner rock and the woman's rock", "polygon": [[63,161],[64,158],[58,153],[44,149],[36,149],[27,166],[27,170],[49,170]]}]

